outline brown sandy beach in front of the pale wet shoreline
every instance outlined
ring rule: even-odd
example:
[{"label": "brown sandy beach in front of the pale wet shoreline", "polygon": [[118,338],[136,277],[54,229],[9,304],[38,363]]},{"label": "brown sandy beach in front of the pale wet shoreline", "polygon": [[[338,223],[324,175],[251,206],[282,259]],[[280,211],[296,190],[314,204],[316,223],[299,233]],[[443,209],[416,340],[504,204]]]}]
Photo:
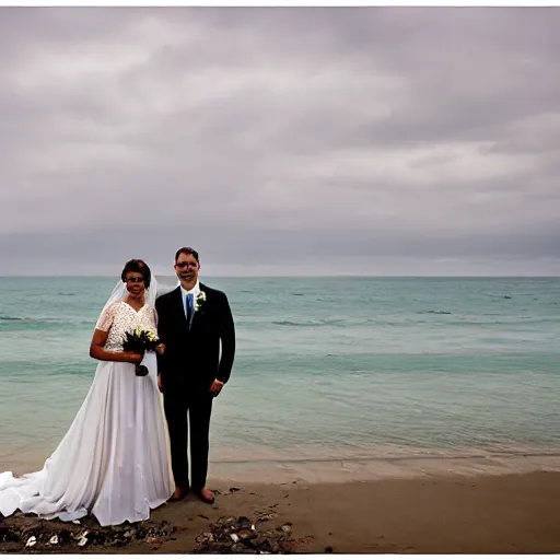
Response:
[{"label": "brown sandy beach in front of the pale wet shoreline", "polygon": [[[188,497],[165,504],[152,522],[176,527],[172,538],[125,547],[51,547],[42,551],[184,553],[224,516],[246,516],[258,530],[291,524],[294,552],[324,553],[555,553],[560,552],[560,472],[425,476],[345,483],[214,485],[217,501]],[[269,518],[267,518],[269,517]],[[258,520],[262,521],[258,521]],[[0,527],[37,523],[2,520]],[[51,530],[68,527],[42,522]],[[56,548],[56,549],[55,549]],[[2,552],[22,545],[0,545]],[[38,551],[38,549],[37,549]]]}]

